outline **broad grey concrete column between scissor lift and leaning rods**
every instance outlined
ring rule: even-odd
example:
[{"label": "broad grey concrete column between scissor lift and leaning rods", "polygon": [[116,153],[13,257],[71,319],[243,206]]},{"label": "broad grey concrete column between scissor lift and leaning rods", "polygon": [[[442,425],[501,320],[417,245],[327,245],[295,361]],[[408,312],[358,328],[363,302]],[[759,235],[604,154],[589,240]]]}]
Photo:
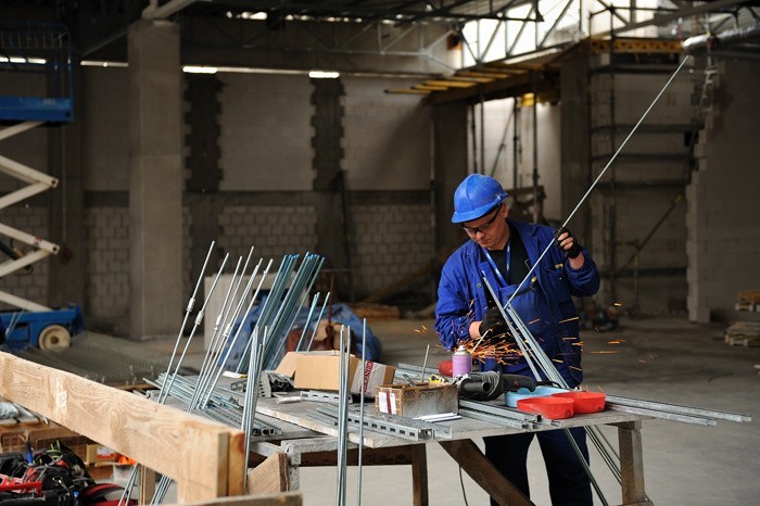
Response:
[{"label": "broad grey concrete column between scissor lift and leaning rods", "polygon": [[182,316],[179,28],[139,21],[128,52],[129,334],[170,336]]}]

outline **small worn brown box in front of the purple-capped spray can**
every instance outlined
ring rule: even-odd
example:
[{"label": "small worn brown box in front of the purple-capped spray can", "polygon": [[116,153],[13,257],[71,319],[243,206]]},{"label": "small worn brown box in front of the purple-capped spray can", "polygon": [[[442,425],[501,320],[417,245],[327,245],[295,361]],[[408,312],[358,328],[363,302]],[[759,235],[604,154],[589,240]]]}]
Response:
[{"label": "small worn brown box in front of the purple-capped spray can", "polygon": [[452,383],[381,384],[375,389],[375,412],[409,418],[459,413],[457,388]]}]

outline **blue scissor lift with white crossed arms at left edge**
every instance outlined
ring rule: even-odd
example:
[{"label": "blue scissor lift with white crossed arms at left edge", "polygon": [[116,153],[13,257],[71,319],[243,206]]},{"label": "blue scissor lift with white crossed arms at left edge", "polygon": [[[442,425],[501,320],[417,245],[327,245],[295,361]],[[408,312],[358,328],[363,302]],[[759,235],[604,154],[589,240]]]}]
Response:
[{"label": "blue scissor lift with white crossed arms at left edge", "polygon": [[[41,74],[46,97],[5,96],[0,90],[0,141],[41,125],[60,125],[73,119],[72,51],[68,30],[59,24],[0,22],[0,75]],[[17,74],[15,74],[17,75]],[[0,155],[0,172],[25,186],[0,197],[0,211],[55,188],[59,180],[40,170]],[[9,260],[0,264],[0,278],[27,268],[59,252],[59,245],[0,223],[0,241],[9,238],[27,251],[3,243]],[[26,313],[0,313],[5,340],[12,347],[38,345],[41,349],[66,347],[71,334],[83,328],[78,306],[53,309],[0,290],[0,302]]]}]

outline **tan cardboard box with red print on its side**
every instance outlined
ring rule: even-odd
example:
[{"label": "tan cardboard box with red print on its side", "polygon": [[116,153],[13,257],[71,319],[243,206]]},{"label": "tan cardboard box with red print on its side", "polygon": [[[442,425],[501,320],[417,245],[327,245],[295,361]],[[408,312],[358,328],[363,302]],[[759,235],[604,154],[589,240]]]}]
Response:
[{"label": "tan cardboard box with red print on its side", "polygon": [[[289,374],[294,370],[295,378],[293,387],[297,390],[340,390],[340,355],[333,350],[329,352],[295,353],[293,357],[288,357],[288,353],[277,368],[281,374]],[[367,360],[364,375],[365,394],[369,397],[375,395],[375,388],[393,381],[395,367]],[[362,392],[362,360],[351,356],[349,364],[349,375],[351,377],[351,392],[358,394]]]}]

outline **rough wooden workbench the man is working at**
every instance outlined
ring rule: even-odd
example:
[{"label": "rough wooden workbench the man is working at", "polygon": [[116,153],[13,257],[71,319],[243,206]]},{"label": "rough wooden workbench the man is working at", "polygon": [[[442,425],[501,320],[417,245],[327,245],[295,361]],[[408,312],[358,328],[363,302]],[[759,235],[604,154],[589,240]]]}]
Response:
[{"label": "rough wooden workbench the man is working at", "polygon": [[[297,393],[296,393],[297,395]],[[502,397],[503,399],[503,397]],[[259,399],[256,418],[279,427],[281,433],[252,440],[252,453],[258,463],[279,458],[280,466],[262,466],[263,473],[256,480],[276,481],[282,491],[299,489],[299,468],[305,466],[330,466],[337,463],[338,427],[315,417],[312,412],[321,403],[302,401],[292,404],[278,404],[276,399]],[[503,401],[493,402],[503,406]],[[367,415],[375,414],[375,404],[365,404]],[[644,489],[644,466],[642,458],[642,420],[647,417],[620,412],[605,410],[596,414],[575,415],[563,420],[543,419],[530,429],[514,429],[487,421],[463,417],[442,422],[451,427],[451,438],[440,437],[410,441],[385,432],[365,428],[363,465],[411,465],[415,506],[428,504],[428,478],[426,444],[440,444],[454,460],[492,497],[502,504],[530,505],[524,495],[507,481],[483,456],[474,439],[512,434],[521,431],[541,431],[572,427],[609,425],[618,429],[618,444],[621,467],[622,498],[625,505],[645,505],[648,502]],[[349,464],[357,463],[359,443],[358,427],[350,427]],[[268,473],[269,476],[264,476]],[[253,480],[249,480],[251,482]]]}]

